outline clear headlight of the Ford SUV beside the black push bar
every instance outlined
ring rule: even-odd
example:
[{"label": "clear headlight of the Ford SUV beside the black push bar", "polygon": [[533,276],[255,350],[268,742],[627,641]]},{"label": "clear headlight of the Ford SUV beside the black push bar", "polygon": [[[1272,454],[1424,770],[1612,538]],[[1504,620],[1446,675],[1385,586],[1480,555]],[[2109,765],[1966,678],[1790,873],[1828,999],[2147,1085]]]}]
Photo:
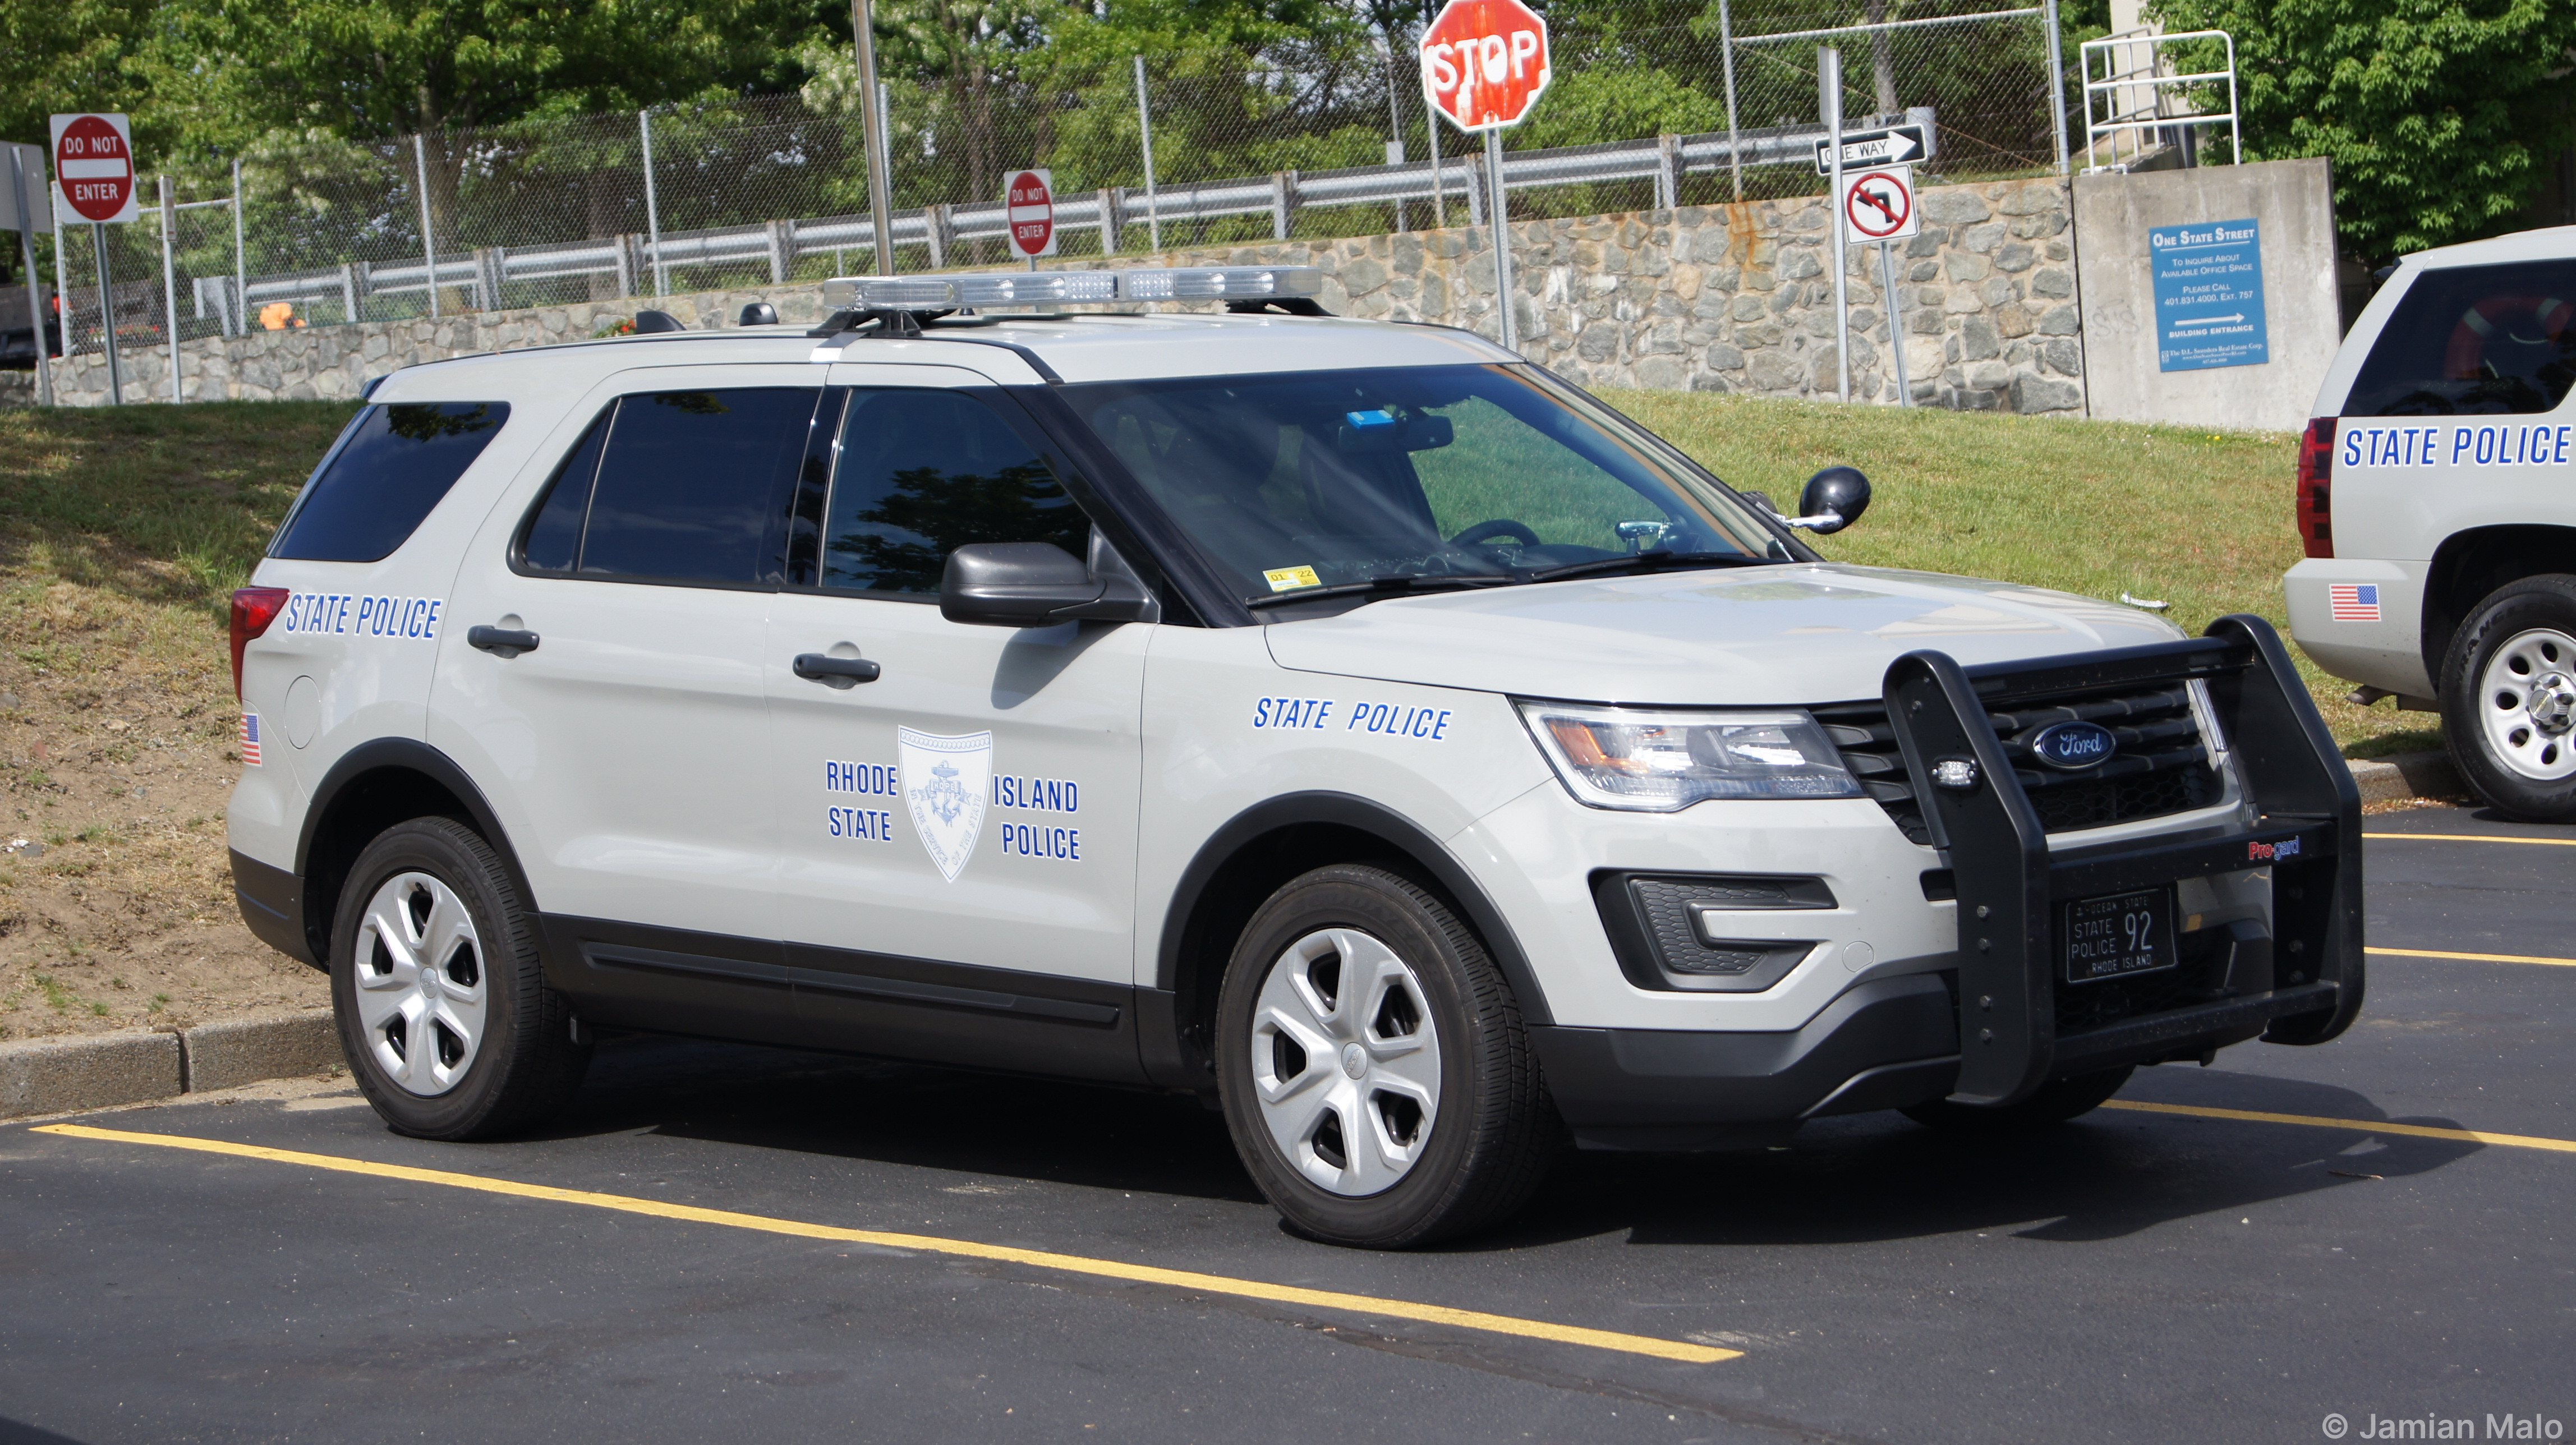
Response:
[{"label": "clear headlight of the Ford SUV beside the black push bar", "polygon": [[1520,703],[1577,801],[1669,814],[1703,798],[1857,798],[1860,783],[1806,713]]}]

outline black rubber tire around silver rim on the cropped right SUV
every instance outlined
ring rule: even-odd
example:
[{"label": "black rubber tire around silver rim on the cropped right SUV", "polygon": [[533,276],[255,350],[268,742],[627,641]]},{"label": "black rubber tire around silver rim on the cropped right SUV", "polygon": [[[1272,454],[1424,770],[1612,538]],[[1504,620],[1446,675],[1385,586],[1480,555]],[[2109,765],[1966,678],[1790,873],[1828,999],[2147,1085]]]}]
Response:
[{"label": "black rubber tire around silver rim on the cropped right SUV", "polygon": [[[2540,757],[2524,752],[2517,760],[2494,737],[2499,729],[2488,726],[2491,721],[2504,721],[2504,732],[2512,732],[2509,716],[2496,719],[2491,713],[2501,698],[2491,695],[2486,680],[2491,667],[2499,662],[2499,649],[2517,644],[2517,639],[2553,631],[2566,639],[2576,639],[2576,577],[2550,574],[2509,582],[2488,592],[2486,600],[2478,603],[2478,610],[2460,623],[2460,631],[2450,639],[2450,652],[2442,657],[2442,675],[2437,677],[2442,695],[2442,744],[2450,750],[2452,768],[2458,768],[2460,778],[2465,778],[2481,798],[2496,806],[2496,811],[2524,822],[2576,819],[2576,732],[2561,726],[2550,734],[2532,724],[2527,732],[2532,742],[2543,744],[2540,755],[2548,757],[2543,773],[2563,770],[2558,778],[2532,775],[2532,765],[2540,762]],[[2568,649],[2548,647],[2545,652],[2566,654]],[[2566,675],[2576,677],[2576,657],[2563,657],[2563,662],[2568,667]],[[2555,670],[2555,662],[2545,659],[2543,667]],[[2537,688],[2524,685],[2522,695],[2527,701],[2535,693]]]}]

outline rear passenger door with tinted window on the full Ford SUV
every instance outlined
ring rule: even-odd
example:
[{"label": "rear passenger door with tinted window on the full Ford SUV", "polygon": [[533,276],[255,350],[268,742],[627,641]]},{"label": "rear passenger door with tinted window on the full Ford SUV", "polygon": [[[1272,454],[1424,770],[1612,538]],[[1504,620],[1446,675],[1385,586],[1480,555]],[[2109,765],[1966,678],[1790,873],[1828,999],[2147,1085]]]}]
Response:
[{"label": "rear passenger door with tinted window on the full Ford SUV", "polygon": [[760,657],[819,397],[809,366],[621,373],[456,580],[430,744],[502,814],[600,1023],[788,1015]]}]

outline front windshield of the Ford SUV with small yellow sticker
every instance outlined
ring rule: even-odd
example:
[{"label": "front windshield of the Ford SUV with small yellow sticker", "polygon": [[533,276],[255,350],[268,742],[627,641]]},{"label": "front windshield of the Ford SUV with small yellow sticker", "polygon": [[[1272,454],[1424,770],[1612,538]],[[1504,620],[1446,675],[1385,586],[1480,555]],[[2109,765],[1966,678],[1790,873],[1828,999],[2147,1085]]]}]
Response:
[{"label": "front windshield of the Ford SUV with small yellow sticker", "polygon": [[[1064,386],[1252,603],[1788,559],[1744,502],[1522,366]],[[1592,567],[1582,567],[1592,569]]]}]

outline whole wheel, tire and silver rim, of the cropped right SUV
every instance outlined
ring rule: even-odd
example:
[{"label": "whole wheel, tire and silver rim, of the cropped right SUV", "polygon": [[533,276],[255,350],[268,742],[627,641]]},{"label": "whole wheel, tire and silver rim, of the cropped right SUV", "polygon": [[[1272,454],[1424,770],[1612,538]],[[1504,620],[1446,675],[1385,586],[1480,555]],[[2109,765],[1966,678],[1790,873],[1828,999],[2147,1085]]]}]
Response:
[{"label": "whole wheel, tire and silver rim, of the cropped right SUV", "polygon": [[2439,685],[2450,760],[2481,798],[2576,819],[2576,577],[2496,587],[2452,636]]}]

